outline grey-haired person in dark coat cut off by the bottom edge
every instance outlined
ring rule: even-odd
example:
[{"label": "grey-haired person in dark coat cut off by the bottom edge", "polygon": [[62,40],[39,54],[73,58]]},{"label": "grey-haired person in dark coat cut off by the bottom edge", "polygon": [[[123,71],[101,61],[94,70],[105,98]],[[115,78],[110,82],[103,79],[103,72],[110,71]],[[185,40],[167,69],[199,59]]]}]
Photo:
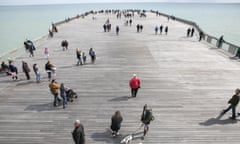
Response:
[{"label": "grey-haired person in dark coat cut off by the bottom edge", "polygon": [[80,123],[80,120],[74,122],[74,130],[72,132],[72,138],[75,144],[85,144],[84,127]]}]

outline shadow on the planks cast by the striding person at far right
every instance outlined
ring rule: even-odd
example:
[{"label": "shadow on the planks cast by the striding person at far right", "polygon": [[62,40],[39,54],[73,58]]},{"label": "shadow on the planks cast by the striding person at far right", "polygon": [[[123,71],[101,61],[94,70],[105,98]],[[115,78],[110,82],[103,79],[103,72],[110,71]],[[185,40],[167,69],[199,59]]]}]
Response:
[{"label": "shadow on the planks cast by the striding person at far right", "polygon": [[222,114],[219,114],[216,118],[210,118],[210,119],[206,120],[205,122],[201,122],[199,124],[203,125],[203,126],[211,126],[211,125],[216,125],[216,124],[226,125],[226,124],[235,124],[238,121],[238,120],[233,120],[233,119],[221,120],[222,116],[223,116]]}]

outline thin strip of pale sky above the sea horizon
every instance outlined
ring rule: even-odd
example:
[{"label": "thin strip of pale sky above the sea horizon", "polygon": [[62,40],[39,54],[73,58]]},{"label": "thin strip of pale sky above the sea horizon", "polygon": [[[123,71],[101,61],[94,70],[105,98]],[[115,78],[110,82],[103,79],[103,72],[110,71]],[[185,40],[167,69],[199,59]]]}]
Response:
[{"label": "thin strip of pale sky above the sea horizon", "polygon": [[240,3],[240,0],[0,0],[0,5],[35,5],[35,4],[104,3],[104,2]]}]

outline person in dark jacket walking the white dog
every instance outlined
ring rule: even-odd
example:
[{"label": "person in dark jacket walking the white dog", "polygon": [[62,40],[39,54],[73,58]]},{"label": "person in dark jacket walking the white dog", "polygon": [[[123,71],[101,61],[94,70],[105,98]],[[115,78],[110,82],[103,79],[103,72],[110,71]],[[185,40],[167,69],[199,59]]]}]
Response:
[{"label": "person in dark jacket walking the white dog", "polygon": [[153,120],[154,120],[154,116],[152,114],[152,109],[148,108],[147,104],[145,104],[143,107],[143,112],[142,112],[142,116],[141,116],[141,121],[144,125],[142,139],[144,139],[144,137],[148,133],[150,122]]}]

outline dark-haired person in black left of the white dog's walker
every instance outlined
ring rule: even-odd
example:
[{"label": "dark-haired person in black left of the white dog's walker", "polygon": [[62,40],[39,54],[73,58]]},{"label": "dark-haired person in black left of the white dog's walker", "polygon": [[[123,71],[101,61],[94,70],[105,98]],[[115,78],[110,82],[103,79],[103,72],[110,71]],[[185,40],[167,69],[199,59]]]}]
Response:
[{"label": "dark-haired person in black left of the white dog's walker", "polygon": [[118,131],[120,130],[121,123],[123,121],[120,111],[115,112],[115,114],[111,118],[111,121],[112,136],[115,137],[116,135],[119,135]]}]

